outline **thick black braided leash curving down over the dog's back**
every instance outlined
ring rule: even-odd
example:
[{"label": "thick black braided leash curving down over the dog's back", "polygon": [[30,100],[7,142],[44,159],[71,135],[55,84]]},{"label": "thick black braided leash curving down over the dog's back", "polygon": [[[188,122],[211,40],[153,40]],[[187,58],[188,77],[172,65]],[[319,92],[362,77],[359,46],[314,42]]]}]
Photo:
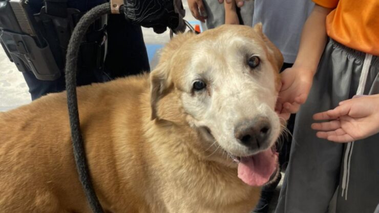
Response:
[{"label": "thick black braided leash curving down over the dog's back", "polygon": [[95,213],[102,213],[104,211],[101,207],[101,204],[96,196],[95,190],[92,185],[83,138],[80,132],[78,102],[76,97],[76,71],[80,42],[85,36],[89,26],[100,16],[110,13],[110,3],[104,3],[102,5],[98,5],[92,8],[85,15],[83,15],[83,17],[80,18],[78,24],[76,25],[74,31],[72,32],[66,54],[65,73],[67,104],[70,116],[70,128],[75,163],[79,174],[80,182],[86,193],[87,200],[91,206],[92,211]]}]

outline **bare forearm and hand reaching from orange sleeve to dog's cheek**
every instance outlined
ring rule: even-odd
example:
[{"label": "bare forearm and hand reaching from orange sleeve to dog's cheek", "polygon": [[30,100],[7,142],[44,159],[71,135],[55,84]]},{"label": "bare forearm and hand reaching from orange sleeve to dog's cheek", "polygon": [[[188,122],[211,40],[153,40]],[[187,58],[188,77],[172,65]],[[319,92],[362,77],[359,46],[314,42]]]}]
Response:
[{"label": "bare forearm and hand reaching from orange sleeve to dog's cheek", "polygon": [[299,111],[307,100],[314,74],[324,52],[327,34],[326,16],[331,9],[315,5],[304,24],[299,53],[291,68],[281,73],[282,88],[275,111],[281,118],[288,119],[290,113]]}]

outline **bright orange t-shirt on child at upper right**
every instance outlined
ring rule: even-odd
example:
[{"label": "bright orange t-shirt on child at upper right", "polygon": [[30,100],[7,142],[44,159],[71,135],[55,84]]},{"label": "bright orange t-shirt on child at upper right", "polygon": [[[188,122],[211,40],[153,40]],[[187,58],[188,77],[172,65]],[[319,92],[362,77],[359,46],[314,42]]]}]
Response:
[{"label": "bright orange t-shirt on child at upper right", "polygon": [[328,36],[361,52],[379,55],[379,0],[313,0],[332,10],[326,17]]}]

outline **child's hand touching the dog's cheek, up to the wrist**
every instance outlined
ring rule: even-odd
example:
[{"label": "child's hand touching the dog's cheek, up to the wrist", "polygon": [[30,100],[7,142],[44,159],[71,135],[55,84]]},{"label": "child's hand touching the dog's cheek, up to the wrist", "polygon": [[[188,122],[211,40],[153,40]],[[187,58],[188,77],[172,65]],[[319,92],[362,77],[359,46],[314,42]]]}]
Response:
[{"label": "child's hand touching the dog's cheek, up to the wrist", "polygon": [[281,73],[282,87],[275,108],[279,117],[288,120],[291,113],[299,111],[307,100],[313,75],[314,72],[302,67],[287,68]]}]

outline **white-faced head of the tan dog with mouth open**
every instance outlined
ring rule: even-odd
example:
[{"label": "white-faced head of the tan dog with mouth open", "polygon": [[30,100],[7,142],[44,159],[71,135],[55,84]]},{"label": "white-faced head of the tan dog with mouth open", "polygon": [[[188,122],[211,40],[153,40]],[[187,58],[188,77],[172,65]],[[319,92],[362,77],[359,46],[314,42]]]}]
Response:
[{"label": "white-faced head of the tan dog with mouth open", "polygon": [[[274,108],[282,63],[282,54],[260,24],[177,36],[162,50],[151,73],[152,119],[159,118],[158,101],[175,91],[186,121],[204,141],[216,141],[240,164],[258,167],[251,156],[272,158],[270,147],[281,132]],[[272,163],[263,166],[270,171],[262,173],[272,173]]]}]

